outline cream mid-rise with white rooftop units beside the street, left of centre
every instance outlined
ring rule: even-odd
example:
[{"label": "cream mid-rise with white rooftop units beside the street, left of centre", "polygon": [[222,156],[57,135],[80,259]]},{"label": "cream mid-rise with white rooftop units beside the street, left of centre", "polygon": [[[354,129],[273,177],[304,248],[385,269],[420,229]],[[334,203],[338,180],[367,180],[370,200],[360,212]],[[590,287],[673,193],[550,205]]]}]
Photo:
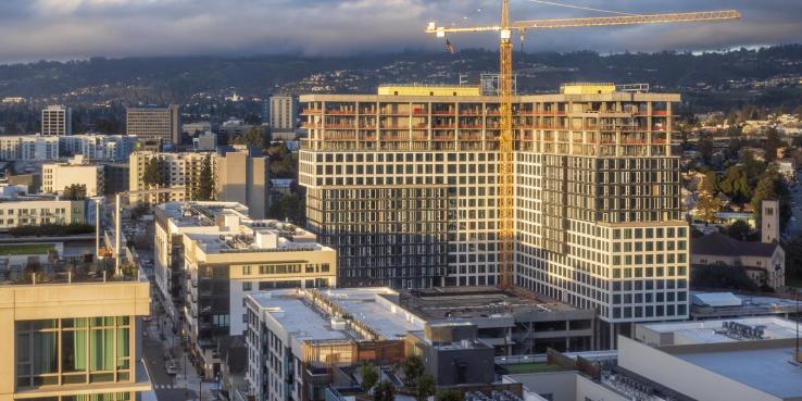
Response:
[{"label": "cream mid-rise with white rooftop units beside the street, left of centre", "polygon": [[247,328],[248,293],[337,285],[334,249],[291,224],[251,220],[241,204],[164,203],[155,214],[156,285],[171,313],[183,313],[208,377],[220,372],[216,340]]}]

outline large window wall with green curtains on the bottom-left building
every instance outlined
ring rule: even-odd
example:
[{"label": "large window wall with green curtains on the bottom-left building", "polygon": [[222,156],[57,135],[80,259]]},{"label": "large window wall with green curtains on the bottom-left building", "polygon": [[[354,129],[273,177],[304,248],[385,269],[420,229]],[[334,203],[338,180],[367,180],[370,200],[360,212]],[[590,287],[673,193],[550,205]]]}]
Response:
[{"label": "large window wall with green curtains on the bottom-left building", "polygon": [[16,322],[16,386],[129,381],[130,330],[128,316]]}]

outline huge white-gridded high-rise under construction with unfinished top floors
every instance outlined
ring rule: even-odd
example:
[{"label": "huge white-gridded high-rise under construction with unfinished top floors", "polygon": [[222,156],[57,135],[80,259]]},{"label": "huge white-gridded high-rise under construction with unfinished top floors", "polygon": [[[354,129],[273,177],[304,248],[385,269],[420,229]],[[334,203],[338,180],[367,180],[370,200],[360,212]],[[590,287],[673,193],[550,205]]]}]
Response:
[{"label": "huge white-gridded high-rise under construction with unfinished top floors", "polygon": [[[302,96],[308,226],[343,286],[498,283],[496,97],[469,87]],[[515,285],[629,322],[688,317],[678,95],[577,84],[517,96]]]}]

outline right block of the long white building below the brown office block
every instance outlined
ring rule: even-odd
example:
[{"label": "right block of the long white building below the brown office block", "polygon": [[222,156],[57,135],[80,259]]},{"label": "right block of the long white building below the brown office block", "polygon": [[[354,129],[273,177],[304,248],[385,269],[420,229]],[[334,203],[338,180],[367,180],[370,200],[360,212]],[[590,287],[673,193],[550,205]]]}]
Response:
[{"label": "right block of the long white building below the brown office block", "polygon": [[85,160],[124,162],[136,150],[137,139],[128,135],[72,135],[59,138],[59,150],[64,154],[80,154]]}]

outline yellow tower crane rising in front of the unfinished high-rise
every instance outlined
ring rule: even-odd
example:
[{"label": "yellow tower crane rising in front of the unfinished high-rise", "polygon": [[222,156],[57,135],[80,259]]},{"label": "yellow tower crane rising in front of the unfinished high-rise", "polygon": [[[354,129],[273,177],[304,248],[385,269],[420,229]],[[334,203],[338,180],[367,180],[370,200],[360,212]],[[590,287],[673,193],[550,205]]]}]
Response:
[{"label": "yellow tower crane rising in front of the unfinished high-rise", "polygon": [[[534,0],[532,0],[534,1]],[[546,1],[536,1],[544,2]],[[554,3],[552,3],[554,4]],[[564,4],[556,4],[564,5]],[[573,7],[577,8],[577,7]],[[592,10],[592,9],[587,9]],[[601,10],[597,10],[601,11]],[[429,23],[426,27],[427,34],[437,37],[446,37],[447,34],[498,32],[499,43],[499,108],[501,112],[501,136],[499,138],[499,286],[510,289],[513,286],[513,258],[514,258],[514,202],[515,188],[513,172],[514,139],[513,139],[513,71],[512,71],[512,34],[516,32],[522,35],[528,29],[571,28],[585,26],[616,26],[616,25],[642,25],[664,24],[679,22],[701,22],[740,18],[741,14],[735,10],[702,11],[673,14],[625,14],[603,17],[560,18],[560,20],[527,20],[510,22],[510,0],[501,0],[501,23],[492,26],[473,27],[443,27]]]}]

